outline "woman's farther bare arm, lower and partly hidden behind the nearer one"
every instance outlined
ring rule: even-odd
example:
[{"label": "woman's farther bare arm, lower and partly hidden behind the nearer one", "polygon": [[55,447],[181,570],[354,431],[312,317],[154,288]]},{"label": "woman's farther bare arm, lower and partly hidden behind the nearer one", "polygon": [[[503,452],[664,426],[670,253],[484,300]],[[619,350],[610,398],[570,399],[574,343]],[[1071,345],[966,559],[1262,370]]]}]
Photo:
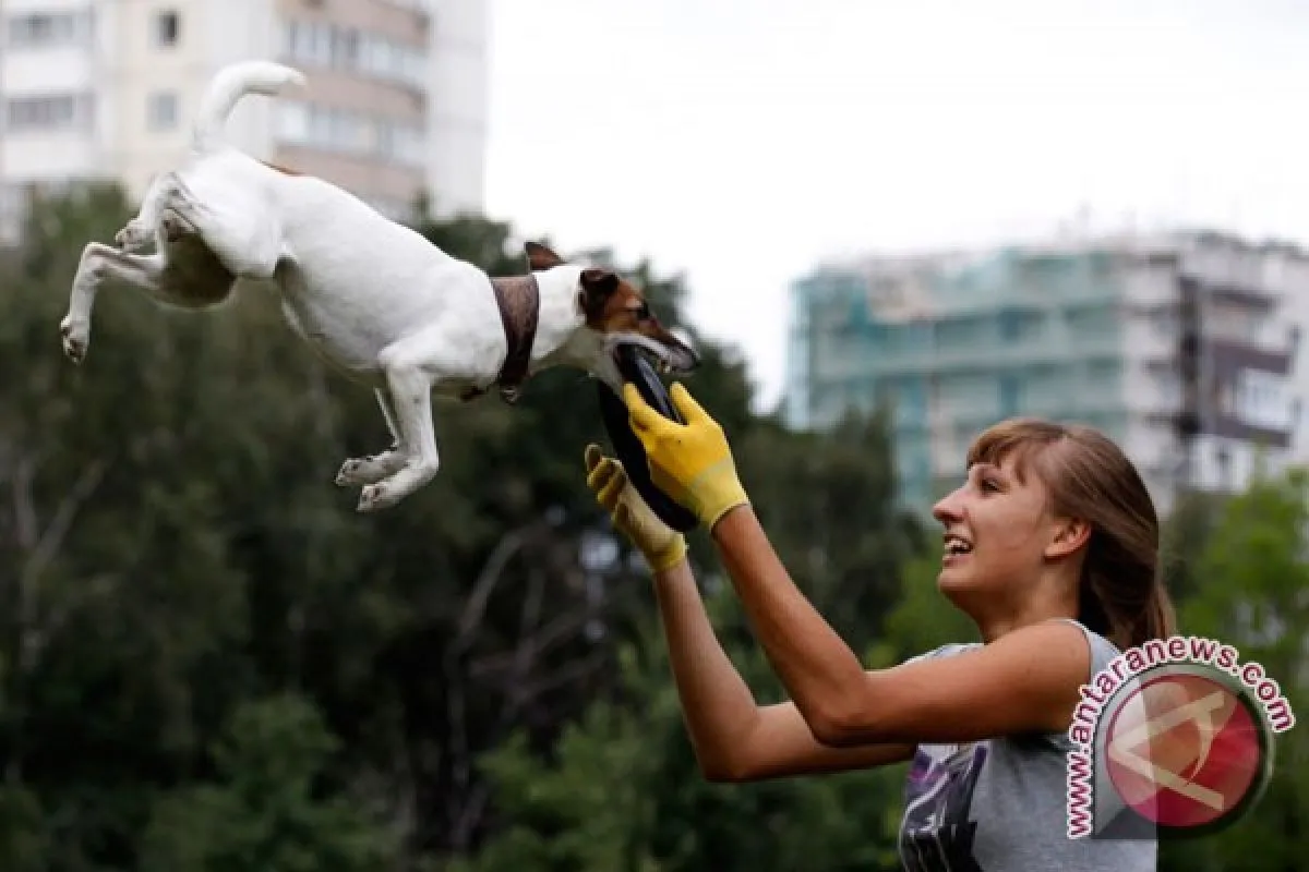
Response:
[{"label": "woman's farther bare arm, lower and partly hidden behind the nearer one", "polygon": [[867,769],[912,756],[907,743],[826,746],[793,703],[761,707],[719,643],[685,560],[656,573],[654,590],[686,729],[709,780]]}]

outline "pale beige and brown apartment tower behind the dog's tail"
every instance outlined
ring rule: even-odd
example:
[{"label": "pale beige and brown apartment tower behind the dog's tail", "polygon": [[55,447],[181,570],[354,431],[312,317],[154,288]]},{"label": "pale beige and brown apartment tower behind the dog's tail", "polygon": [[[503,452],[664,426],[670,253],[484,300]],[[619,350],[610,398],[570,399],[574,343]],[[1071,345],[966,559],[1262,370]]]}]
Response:
[{"label": "pale beige and brown apartment tower behind the dog's tail", "polygon": [[247,97],[229,136],[394,217],[480,210],[486,0],[0,0],[0,235],[27,192],[118,179],[134,197],[183,153],[224,64],[260,58],[309,78]]}]

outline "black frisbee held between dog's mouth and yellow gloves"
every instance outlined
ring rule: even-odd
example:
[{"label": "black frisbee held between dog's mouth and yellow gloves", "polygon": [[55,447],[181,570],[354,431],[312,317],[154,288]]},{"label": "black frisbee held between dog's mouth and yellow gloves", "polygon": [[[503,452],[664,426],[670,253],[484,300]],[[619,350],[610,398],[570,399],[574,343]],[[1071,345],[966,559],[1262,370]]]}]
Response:
[{"label": "black frisbee held between dog's mouth and yellow gloves", "polygon": [[[654,367],[641,357],[632,345],[620,345],[615,352],[618,371],[624,382],[631,382],[640,391],[647,404],[665,418],[686,424],[682,416],[673,408],[673,401],[668,395],[668,388],[660,380]],[[681,505],[666,493],[654,486],[651,481],[649,460],[645,458],[645,447],[632,433],[628,422],[627,404],[623,397],[614,394],[613,388],[601,380],[596,382],[600,394],[600,413],[605,421],[605,430],[614,443],[614,454],[627,471],[627,478],[636,486],[636,492],[645,499],[660,519],[673,529],[685,533],[695,528],[698,520],[695,512]]]}]

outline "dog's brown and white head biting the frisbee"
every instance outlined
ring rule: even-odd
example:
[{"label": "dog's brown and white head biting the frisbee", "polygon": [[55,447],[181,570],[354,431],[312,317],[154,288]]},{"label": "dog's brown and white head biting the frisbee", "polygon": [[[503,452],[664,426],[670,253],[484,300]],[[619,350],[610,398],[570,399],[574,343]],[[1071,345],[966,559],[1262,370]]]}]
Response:
[{"label": "dog's brown and white head biting the frisbee", "polygon": [[533,272],[558,271],[559,280],[569,284],[581,316],[580,335],[567,343],[569,357],[615,391],[622,386],[615,358],[622,345],[635,345],[665,374],[699,366],[699,354],[660,323],[632,282],[603,267],[568,264],[541,243],[529,242],[526,248]]}]

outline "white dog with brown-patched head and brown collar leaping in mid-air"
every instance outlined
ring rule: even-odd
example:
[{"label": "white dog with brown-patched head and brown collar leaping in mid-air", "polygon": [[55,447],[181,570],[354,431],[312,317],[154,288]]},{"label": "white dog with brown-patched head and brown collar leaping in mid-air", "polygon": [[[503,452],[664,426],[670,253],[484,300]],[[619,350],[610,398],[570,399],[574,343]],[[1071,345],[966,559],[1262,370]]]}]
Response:
[{"label": "white dog with brown-patched head and brown collar leaping in mid-air", "polygon": [[[394,506],[437,472],[432,392],[508,400],[531,373],[567,365],[619,388],[614,350],[637,344],[665,371],[696,366],[641,293],[609,269],[564,263],[528,243],[529,272],[491,278],[348,192],[280,170],[224,143],[245,94],[275,95],[304,76],[267,61],[217,73],[181,170],[157,178],[117,237],[93,242],[60,324],[64,352],[86,356],[96,292],[117,278],[170,306],[225,301],[241,280],[271,280],[292,328],[326,361],[377,394],[394,443],[347,460],[342,486],[359,511]],[[154,254],[136,254],[154,244]]]}]

